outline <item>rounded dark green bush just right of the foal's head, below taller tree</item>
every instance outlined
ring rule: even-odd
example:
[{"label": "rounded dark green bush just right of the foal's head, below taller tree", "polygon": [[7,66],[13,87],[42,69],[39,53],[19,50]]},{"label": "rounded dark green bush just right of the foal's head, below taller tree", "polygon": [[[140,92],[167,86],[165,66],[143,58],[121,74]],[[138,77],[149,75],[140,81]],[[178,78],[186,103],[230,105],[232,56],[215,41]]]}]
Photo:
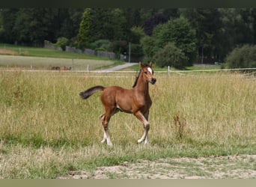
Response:
[{"label": "rounded dark green bush just right of the foal's head, below taller tree", "polygon": [[185,66],[188,58],[174,43],[168,43],[163,49],[156,52],[153,61],[156,61],[159,67],[171,66],[181,68]]}]

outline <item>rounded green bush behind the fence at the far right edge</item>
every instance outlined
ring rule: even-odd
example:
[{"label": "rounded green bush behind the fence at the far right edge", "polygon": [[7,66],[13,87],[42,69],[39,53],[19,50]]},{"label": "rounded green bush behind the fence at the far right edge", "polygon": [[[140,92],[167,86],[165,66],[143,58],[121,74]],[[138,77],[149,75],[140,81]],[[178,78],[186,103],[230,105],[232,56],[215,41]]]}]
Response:
[{"label": "rounded green bush behind the fence at the far right edge", "polygon": [[244,45],[235,48],[226,58],[228,68],[256,67],[256,46]]}]

